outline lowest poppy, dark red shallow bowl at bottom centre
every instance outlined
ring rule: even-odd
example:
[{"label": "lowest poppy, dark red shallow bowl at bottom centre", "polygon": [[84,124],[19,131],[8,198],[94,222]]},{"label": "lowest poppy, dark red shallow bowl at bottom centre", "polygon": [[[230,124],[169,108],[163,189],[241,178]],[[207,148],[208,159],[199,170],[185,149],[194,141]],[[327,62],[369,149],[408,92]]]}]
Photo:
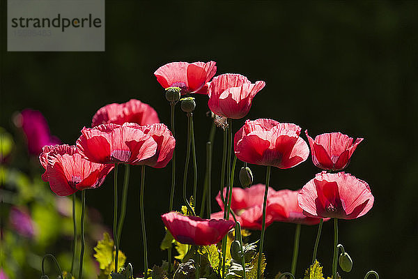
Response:
[{"label": "lowest poppy, dark red shallow bowl at bottom centre", "polygon": [[218,243],[235,226],[231,220],[202,219],[173,211],[161,218],[176,241],[199,246]]}]

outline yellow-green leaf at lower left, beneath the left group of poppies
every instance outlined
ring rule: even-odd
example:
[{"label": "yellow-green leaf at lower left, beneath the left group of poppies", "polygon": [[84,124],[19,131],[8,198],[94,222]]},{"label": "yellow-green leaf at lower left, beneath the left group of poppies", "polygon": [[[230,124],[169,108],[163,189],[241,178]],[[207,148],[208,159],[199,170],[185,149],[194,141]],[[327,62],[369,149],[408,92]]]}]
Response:
[{"label": "yellow-green leaf at lower left, beneath the left group of poppies", "polygon": [[[109,234],[105,232],[103,234],[103,239],[98,241],[98,245],[94,248],[95,254],[94,257],[98,261],[100,266],[100,274],[98,279],[110,279],[118,278],[116,274],[111,276],[112,271],[114,270],[115,262],[115,251],[114,251],[114,241],[110,238]],[[118,253],[118,271],[123,269],[125,265],[125,254],[119,250]]]}]

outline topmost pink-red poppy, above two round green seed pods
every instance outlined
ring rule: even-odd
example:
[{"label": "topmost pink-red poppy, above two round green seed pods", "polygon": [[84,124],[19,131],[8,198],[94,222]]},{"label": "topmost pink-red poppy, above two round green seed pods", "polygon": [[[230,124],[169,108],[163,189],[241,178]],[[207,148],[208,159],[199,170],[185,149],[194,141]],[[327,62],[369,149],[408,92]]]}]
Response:
[{"label": "topmost pink-red poppy, above two round green seed pods", "polygon": [[182,94],[207,94],[206,83],[216,73],[216,62],[172,62],[158,68],[154,75],[162,87],[179,87]]}]

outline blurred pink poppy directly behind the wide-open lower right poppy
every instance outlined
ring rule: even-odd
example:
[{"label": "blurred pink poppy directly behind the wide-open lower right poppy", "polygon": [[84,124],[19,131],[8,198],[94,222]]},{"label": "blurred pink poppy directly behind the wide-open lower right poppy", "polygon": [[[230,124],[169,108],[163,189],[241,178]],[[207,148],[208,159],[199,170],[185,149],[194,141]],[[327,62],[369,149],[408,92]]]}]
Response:
[{"label": "blurred pink poppy directly behind the wide-open lower right poppy", "polygon": [[272,216],[272,221],[302,225],[316,225],[320,222],[320,218],[308,217],[303,214],[303,210],[297,204],[299,191],[279,190],[268,197],[266,211],[268,216]]}]

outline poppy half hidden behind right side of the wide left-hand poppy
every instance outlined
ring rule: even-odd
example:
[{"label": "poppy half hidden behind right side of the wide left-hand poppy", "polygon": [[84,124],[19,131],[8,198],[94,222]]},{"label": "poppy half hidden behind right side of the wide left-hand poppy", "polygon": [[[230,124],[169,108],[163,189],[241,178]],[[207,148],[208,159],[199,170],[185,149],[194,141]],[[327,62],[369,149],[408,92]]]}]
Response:
[{"label": "poppy half hidden behind right side of the wide left-hand poppy", "polygon": [[146,135],[153,137],[157,143],[157,151],[155,155],[144,160],[142,165],[150,167],[165,167],[171,158],[173,158],[174,147],[176,147],[176,139],[167,126],[162,123],[151,124],[147,126],[138,126]]}]

